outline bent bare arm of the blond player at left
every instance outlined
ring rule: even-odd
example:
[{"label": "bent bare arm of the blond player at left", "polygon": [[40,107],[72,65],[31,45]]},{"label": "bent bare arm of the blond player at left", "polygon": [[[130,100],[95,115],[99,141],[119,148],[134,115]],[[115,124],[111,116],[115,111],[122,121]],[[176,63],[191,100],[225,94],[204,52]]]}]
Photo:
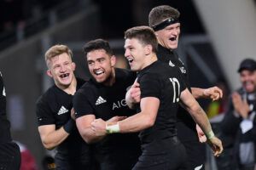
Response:
[{"label": "bent bare arm of the blond player at left", "polygon": [[38,132],[44,148],[47,150],[54,149],[57,145],[67,139],[67,136],[69,135],[63,127],[55,130],[55,124],[39,126]]}]

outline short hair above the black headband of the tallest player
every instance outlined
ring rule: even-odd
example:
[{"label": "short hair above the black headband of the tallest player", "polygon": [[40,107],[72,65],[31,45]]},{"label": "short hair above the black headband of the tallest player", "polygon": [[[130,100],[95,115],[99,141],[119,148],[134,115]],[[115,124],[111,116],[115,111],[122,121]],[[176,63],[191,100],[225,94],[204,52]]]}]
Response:
[{"label": "short hair above the black headband of the tallest player", "polygon": [[160,5],[152,8],[148,14],[148,25],[153,27],[170,18],[178,20],[179,15],[180,13],[176,8],[168,5]]}]

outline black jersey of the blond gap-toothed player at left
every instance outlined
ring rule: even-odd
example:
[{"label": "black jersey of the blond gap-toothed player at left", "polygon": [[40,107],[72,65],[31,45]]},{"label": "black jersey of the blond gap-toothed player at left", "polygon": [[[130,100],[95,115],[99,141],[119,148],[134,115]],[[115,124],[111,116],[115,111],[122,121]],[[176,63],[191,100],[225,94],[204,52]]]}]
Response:
[{"label": "black jersey of the blond gap-toothed player at left", "polygon": [[[84,81],[77,78],[77,90],[83,84]],[[71,119],[72,108],[73,95],[53,85],[37,101],[38,126],[55,124],[56,129],[62,127]],[[75,159],[85,156],[89,147],[75,126],[67,139],[57,146],[57,151],[58,154]]]}]

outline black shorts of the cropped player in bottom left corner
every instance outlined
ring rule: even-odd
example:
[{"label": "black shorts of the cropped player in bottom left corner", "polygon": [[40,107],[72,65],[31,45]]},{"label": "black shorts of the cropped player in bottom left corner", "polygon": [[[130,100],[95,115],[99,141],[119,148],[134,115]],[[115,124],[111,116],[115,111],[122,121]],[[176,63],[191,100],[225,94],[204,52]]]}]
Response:
[{"label": "black shorts of the cropped player in bottom left corner", "polygon": [[14,142],[0,143],[0,169],[20,170],[20,148]]}]

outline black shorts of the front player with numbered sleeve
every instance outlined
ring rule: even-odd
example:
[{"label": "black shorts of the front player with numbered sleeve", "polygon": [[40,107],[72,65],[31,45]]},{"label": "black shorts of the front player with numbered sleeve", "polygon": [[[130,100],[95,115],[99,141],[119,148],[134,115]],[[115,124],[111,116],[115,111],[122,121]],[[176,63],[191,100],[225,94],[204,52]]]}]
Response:
[{"label": "black shorts of the front player with numbered sleeve", "polygon": [[186,152],[183,144],[174,143],[171,139],[166,142],[157,142],[160,150],[143,150],[143,155],[132,170],[182,170],[185,169]]}]

